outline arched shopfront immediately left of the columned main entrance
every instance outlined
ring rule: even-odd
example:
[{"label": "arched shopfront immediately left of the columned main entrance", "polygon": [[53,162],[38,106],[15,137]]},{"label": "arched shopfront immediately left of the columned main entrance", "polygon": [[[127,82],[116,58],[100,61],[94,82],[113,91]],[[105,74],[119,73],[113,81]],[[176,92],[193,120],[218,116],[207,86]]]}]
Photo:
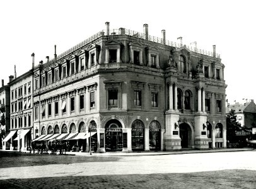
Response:
[{"label": "arched shopfront immediately left of the columned main entrance", "polygon": [[161,126],[157,121],[149,124],[149,149],[151,151],[161,150]]}]

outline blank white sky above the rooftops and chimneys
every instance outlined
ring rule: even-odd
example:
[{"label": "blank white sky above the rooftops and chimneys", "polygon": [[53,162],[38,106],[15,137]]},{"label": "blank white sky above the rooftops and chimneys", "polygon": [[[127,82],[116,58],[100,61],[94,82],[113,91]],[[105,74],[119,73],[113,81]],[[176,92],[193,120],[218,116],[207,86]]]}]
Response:
[{"label": "blank white sky above the rooftops and chimneys", "polygon": [[17,77],[35,64],[45,62],[105,29],[120,27],[183,44],[197,42],[199,49],[221,54],[224,79],[230,103],[242,98],[256,100],[256,1],[1,1],[0,2],[0,79]]}]

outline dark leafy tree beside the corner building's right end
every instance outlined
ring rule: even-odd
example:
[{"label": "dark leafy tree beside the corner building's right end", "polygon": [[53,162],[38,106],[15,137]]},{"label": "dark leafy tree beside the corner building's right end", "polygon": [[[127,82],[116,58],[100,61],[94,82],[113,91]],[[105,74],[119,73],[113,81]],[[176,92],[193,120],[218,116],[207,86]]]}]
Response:
[{"label": "dark leafy tree beside the corner building's right end", "polygon": [[236,140],[236,131],[241,131],[241,123],[236,121],[235,110],[230,110],[230,113],[226,116],[226,137],[230,142]]}]

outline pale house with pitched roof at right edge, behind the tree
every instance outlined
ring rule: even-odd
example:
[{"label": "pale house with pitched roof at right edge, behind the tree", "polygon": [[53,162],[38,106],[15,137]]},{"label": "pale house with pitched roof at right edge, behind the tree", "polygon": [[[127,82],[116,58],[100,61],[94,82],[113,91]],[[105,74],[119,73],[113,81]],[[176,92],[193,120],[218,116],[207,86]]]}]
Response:
[{"label": "pale house with pitched roof at right edge, behind the tree", "polygon": [[236,113],[236,120],[242,127],[252,128],[256,127],[256,105],[253,100],[246,103],[235,103],[226,107],[226,113],[234,110]]}]

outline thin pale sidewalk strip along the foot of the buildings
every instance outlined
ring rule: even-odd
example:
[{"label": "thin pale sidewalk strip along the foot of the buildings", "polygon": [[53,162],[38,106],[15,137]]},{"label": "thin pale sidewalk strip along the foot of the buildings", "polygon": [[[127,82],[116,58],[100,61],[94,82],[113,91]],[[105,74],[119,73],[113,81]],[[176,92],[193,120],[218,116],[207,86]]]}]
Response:
[{"label": "thin pale sidewalk strip along the foot of the buildings", "polygon": [[[213,152],[238,152],[238,151],[253,151],[256,149],[252,148],[226,148],[226,149],[186,149],[181,151],[159,151],[159,152],[106,152],[106,153],[95,153],[92,152],[91,156],[160,156],[160,155],[169,155],[169,154],[196,154],[196,153],[213,153]],[[0,150],[3,151],[3,150]],[[10,151],[18,152],[18,151]],[[30,151],[22,151],[21,153],[29,153]],[[90,156],[89,152],[66,152],[66,155],[71,156]]]}]

